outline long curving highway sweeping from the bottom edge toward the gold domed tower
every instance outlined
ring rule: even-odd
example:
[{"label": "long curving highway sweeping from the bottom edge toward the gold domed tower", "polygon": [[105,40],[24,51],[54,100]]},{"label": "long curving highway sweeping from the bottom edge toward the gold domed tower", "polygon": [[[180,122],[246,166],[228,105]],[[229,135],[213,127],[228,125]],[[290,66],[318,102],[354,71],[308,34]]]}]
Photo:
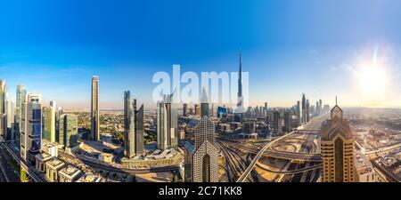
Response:
[{"label": "long curving highway sweeping from the bottom edge toward the gold domed tower", "polygon": [[[320,128],[320,125],[323,123],[324,120],[326,120],[329,117],[329,115],[323,115],[323,116],[318,116],[312,119],[309,123],[305,124],[304,126],[299,127],[299,130],[313,130],[313,131],[318,131]],[[296,131],[295,131],[296,132]],[[255,168],[256,164],[258,164],[258,160],[261,156],[264,155],[265,151],[267,148],[271,148],[274,143],[280,141],[280,140],[285,140],[287,138],[290,138],[293,136],[295,132],[290,132],[286,135],[283,135],[271,142],[269,142],[265,147],[260,149],[258,154],[254,157],[248,168],[241,174],[240,178],[236,182],[243,182],[247,179],[247,177],[250,175],[250,172],[253,171]]]}]

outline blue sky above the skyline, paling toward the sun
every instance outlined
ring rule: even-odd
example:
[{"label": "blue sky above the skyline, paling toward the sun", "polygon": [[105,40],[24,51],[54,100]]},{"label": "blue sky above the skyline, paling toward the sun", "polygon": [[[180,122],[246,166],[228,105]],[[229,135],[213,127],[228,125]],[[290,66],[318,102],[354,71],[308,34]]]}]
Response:
[{"label": "blue sky above the skyline, paling toward the sun", "polygon": [[[306,92],[313,102],[399,107],[400,10],[397,0],[2,0],[0,78],[12,97],[20,83],[89,108],[99,75],[102,108],[121,108],[125,90],[151,108],[155,72],[233,71],[241,48],[251,103],[291,106]],[[366,97],[354,72],[375,48],[389,83]]]}]

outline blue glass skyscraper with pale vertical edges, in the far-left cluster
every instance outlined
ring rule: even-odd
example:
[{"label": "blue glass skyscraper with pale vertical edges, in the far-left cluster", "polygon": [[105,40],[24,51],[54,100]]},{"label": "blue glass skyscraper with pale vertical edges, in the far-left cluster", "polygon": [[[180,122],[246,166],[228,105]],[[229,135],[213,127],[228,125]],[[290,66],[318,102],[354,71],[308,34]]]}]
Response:
[{"label": "blue glass skyscraper with pale vertical edges, in the far-left cluster", "polygon": [[[24,108],[24,107],[23,107]],[[33,92],[28,95],[25,118],[25,153],[28,150],[28,160],[35,164],[35,156],[40,153],[42,140],[42,94]],[[22,148],[21,148],[22,151]],[[27,158],[27,156],[25,156]]]}]

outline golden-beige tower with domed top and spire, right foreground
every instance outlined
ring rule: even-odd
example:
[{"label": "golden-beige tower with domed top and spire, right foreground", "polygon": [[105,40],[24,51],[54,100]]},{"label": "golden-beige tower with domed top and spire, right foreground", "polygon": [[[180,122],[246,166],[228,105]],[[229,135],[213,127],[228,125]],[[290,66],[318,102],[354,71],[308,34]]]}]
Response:
[{"label": "golden-beige tower with domed top and spire, right foreground", "polygon": [[331,119],[322,125],[321,133],[322,181],[354,182],[354,140],[337,98]]}]

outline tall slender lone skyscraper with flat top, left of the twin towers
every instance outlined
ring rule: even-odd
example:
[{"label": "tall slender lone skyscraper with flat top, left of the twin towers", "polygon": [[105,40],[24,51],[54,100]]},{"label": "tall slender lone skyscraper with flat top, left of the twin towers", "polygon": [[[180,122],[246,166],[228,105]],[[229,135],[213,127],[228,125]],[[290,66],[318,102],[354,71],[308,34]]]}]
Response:
[{"label": "tall slender lone skyscraper with flat top, left of the twin towers", "polygon": [[91,137],[90,140],[99,140],[99,76],[92,77],[92,101],[91,101]]}]

